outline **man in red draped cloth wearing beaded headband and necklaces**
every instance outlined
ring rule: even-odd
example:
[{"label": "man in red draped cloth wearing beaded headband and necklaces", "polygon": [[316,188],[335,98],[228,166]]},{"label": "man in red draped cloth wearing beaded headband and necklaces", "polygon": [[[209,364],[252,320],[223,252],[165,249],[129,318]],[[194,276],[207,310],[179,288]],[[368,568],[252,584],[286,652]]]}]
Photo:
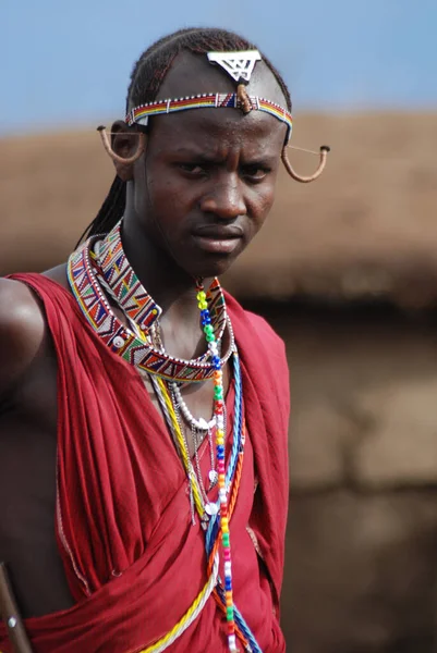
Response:
[{"label": "man in red draped cloth wearing beaded headband and necklaces", "polygon": [[286,650],[287,361],[217,276],[281,158],[299,178],[289,111],[236,35],[161,39],[102,133],[89,241],[0,280],[0,559],[24,617],[3,587],[1,651]]}]

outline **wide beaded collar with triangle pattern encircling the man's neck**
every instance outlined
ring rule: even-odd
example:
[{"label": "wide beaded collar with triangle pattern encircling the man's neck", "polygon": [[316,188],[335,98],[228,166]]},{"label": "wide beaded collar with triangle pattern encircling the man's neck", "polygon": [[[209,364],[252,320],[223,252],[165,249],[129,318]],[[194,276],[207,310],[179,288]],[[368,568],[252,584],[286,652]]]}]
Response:
[{"label": "wide beaded collar with triangle pattern encircling the man's neck", "polygon": [[[202,382],[206,379],[211,379],[215,367],[208,352],[203,357],[194,360],[172,357],[155,347],[149,338],[147,341],[139,338],[133,330],[124,326],[121,320],[119,320],[112,311],[101,286],[105,284],[105,288],[110,288],[111,294],[114,294],[114,291],[106,281],[105,274],[98,269],[96,257],[94,256],[93,258],[92,256],[97,241],[98,237],[89,238],[71,255],[68,262],[68,278],[73,295],[85,318],[105,344],[114,354],[139,370],[157,374],[168,381],[184,383]],[[120,251],[118,254],[120,255]],[[107,275],[112,279],[109,269],[107,270]],[[124,269],[123,278],[126,280],[128,276],[129,270]],[[119,279],[117,271],[113,279]],[[131,276],[133,285],[135,285],[136,281],[136,275]],[[122,286],[120,287],[122,288]],[[121,289],[120,293],[123,294],[123,291]],[[215,280],[209,287],[209,296],[211,304],[216,307],[217,324],[220,331],[224,331],[226,326],[229,325],[229,319],[226,316],[224,298],[218,280]],[[119,300],[117,299],[117,301]],[[148,324],[148,326],[154,323],[160,313],[160,308],[148,295],[147,297],[143,295],[141,301],[138,301],[139,306],[134,307],[133,295],[126,289],[125,294],[123,294],[123,301],[126,310],[131,310],[132,307],[132,315],[136,313],[137,318],[139,316],[142,323]],[[222,323],[223,325],[221,325]],[[230,344],[221,358],[221,365],[226,365],[229,360],[234,346],[232,330],[228,329],[228,331]]]}]

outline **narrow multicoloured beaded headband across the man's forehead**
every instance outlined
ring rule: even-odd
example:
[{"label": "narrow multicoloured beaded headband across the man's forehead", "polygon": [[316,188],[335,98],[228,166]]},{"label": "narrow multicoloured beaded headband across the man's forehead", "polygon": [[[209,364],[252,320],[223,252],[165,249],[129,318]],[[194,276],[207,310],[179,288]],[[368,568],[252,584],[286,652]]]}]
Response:
[{"label": "narrow multicoloured beaded headband across the man's forehead", "polygon": [[[255,111],[264,111],[274,115],[288,126],[286,141],[290,140],[292,131],[292,116],[287,109],[257,96],[246,96],[251,109]],[[177,98],[174,100],[157,100],[139,104],[132,109],[125,122],[132,126],[134,123],[146,126],[150,115],[162,115],[166,113],[174,113],[175,111],[185,111],[186,109],[243,109],[242,100],[236,93],[210,93],[197,96],[187,96],[185,98]]]}]

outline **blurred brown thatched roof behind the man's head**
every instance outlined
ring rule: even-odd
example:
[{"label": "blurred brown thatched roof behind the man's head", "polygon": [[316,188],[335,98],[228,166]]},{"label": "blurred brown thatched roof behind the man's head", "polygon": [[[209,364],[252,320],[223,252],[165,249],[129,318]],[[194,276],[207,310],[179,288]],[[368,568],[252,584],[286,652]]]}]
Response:
[{"label": "blurred brown thatched roof behind the man's head", "polygon": [[[303,115],[293,144],[332,148],[309,185],[281,174],[262,233],[229,273],[240,296],[437,300],[436,114]],[[95,133],[0,141],[0,272],[62,260],[112,178]],[[308,172],[316,158],[291,152]]]}]

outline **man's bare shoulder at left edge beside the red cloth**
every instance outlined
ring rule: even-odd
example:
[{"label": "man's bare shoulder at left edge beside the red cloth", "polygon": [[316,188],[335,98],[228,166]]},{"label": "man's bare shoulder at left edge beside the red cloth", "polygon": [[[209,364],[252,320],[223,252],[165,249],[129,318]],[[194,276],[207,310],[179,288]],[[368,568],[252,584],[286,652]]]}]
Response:
[{"label": "man's bare shoulder at left edge beside the red cloth", "polygon": [[0,396],[26,372],[46,331],[40,305],[23,283],[0,279]]}]

